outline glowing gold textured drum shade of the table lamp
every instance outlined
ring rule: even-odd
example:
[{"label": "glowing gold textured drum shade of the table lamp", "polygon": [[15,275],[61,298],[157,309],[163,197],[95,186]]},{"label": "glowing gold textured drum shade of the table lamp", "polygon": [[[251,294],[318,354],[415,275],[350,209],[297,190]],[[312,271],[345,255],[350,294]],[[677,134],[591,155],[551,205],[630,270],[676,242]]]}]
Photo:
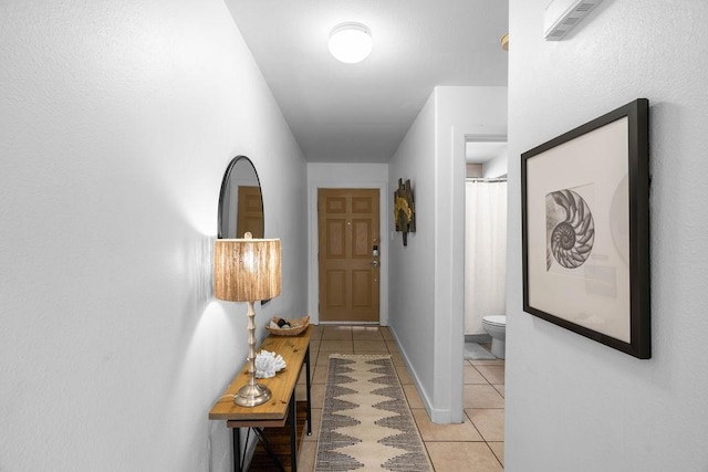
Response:
[{"label": "glowing gold textured drum shade of the table lamp", "polygon": [[280,295],[279,239],[218,239],[214,245],[217,298],[256,302]]}]

